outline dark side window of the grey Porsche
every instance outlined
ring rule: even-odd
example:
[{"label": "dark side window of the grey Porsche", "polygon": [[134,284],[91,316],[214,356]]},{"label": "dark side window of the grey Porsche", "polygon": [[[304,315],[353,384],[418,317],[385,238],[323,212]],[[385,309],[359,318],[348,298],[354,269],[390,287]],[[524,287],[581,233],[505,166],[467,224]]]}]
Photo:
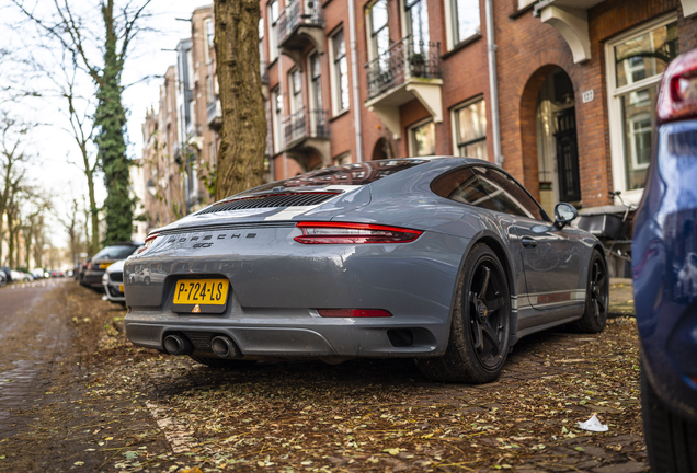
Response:
[{"label": "dark side window of the grey Porsche", "polygon": [[535,220],[548,220],[535,199],[512,177],[492,168],[476,166],[473,170],[499,211]]}]

